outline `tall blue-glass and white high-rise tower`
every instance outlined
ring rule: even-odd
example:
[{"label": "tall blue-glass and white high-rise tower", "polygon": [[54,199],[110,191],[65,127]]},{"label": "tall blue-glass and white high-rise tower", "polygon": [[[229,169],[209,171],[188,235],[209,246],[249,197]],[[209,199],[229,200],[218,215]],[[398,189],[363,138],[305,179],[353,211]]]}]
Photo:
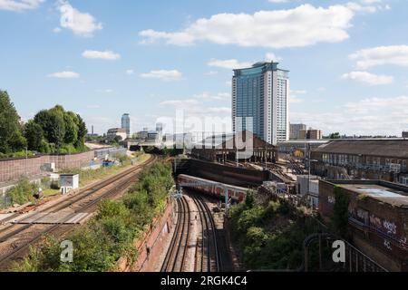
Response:
[{"label": "tall blue-glass and white high-rise tower", "polygon": [[274,145],[289,140],[289,72],[277,64],[255,63],[232,78],[232,130],[253,131]]}]

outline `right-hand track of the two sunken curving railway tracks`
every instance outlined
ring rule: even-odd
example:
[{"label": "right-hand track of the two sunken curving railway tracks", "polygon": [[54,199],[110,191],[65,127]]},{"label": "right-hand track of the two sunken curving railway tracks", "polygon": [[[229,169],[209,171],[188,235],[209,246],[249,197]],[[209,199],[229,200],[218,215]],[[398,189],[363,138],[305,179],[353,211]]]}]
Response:
[{"label": "right-hand track of the two sunken curving railway tracks", "polygon": [[222,272],[223,262],[219,247],[217,227],[207,203],[199,195],[192,195],[196,207],[199,209],[201,222],[201,243],[196,260],[198,272]]}]

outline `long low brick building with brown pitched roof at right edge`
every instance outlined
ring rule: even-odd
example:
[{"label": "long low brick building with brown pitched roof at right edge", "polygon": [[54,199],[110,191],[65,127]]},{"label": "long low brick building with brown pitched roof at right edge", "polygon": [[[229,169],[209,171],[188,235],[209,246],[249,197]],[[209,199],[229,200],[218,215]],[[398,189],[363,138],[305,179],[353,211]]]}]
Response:
[{"label": "long low brick building with brown pitched roof at right edge", "polygon": [[311,153],[312,171],[328,179],[383,179],[408,175],[408,140],[333,140]]}]

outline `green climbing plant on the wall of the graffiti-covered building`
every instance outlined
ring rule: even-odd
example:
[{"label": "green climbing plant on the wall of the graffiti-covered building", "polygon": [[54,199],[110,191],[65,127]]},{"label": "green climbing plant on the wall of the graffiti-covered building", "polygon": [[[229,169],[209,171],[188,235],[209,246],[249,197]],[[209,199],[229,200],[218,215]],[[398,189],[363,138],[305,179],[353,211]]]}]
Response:
[{"label": "green climbing plant on the wall of the graffiti-covered building", "polygon": [[340,187],[335,187],[335,206],[333,208],[332,227],[338,235],[345,237],[348,227],[348,206],[350,198]]}]

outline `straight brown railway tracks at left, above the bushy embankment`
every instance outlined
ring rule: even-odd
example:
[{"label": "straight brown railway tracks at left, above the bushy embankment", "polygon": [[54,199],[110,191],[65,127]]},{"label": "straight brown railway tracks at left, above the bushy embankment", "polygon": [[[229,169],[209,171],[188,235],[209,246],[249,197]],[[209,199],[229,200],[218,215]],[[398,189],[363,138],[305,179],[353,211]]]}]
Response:
[{"label": "straight brown railway tracks at left, above the bushy embankment", "polygon": [[[57,212],[59,210],[65,209],[65,208],[75,208],[73,214],[69,215],[68,217],[65,217],[63,221],[60,221],[57,224],[54,225],[49,225],[45,226],[42,225],[42,229],[35,231],[34,235],[30,235],[28,240],[26,240],[24,243],[21,243],[21,245],[16,246],[13,248],[12,251],[6,253],[4,256],[0,256],[0,270],[7,269],[9,264],[12,261],[20,259],[24,254],[27,252],[30,246],[34,245],[41,237],[44,237],[44,235],[49,235],[53,233],[57,233],[58,235],[63,235],[69,232],[74,225],[64,225],[64,222],[68,221],[70,218],[73,218],[74,215],[76,215],[78,212],[84,212],[84,211],[92,211],[94,208],[96,208],[96,205],[102,201],[102,199],[106,198],[112,198],[115,195],[121,193],[125,189],[129,188],[133,182],[135,182],[138,179],[138,175],[136,174],[138,170],[150,166],[155,160],[157,159],[156,156],[151,156],[150,160],[145,162],[144,164],[138,165],[132,169],[125,170],[121,172],[120,174],[115,175],[114,177],[110,179],[105,179],[98,185],[95,185],[94,187],[90,189],[84,189],[80,193],[67,198],[66,200],[63,200],[62,203],[60,204],[55,204],[53,206],[44,208],[42,211],[47,212],[47,215],[50,215],[52,212]],[[120,181],[120,182],[119,182]],[[117,184],[115,184],[117,183]],[[112,185],[111,189],[108,189],[104,191],[102,194],[97,194],[99,191],[104,189],[105,187],[108,187]],[[114,185],[114,186],[113,186]],[[84,198],[89,198],[85,199]],[[35,212],[36,214],[37,212]],[[5,229],[2,229],[0,231],[0,235],[4,234],[5,232],[8,231],[11,227],[15,227],[19,225],[13,225],[10,227],[6,227]],[[15,230],[7,233],[6,235],[0,236],[0,245],[1,243],[4,243],[11,237],[15,237],[17,235],[22,235],[24,234],[25,231],[28,231],[29,229],[36,227],[38,225],[34,225],[33,223],[24,225],[23,227],[16,228]]]}]

